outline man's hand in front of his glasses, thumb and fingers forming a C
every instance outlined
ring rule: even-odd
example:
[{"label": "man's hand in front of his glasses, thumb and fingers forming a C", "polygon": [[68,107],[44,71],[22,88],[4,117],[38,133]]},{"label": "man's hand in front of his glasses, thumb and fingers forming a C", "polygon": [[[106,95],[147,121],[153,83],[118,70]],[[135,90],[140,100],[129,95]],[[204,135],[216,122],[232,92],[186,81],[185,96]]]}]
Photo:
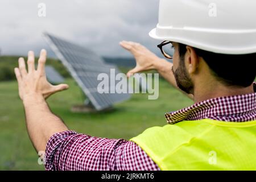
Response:
[{"label": "man's hand in front of his glasses, thumb and fingers forming a C", "polygon": [[120,46],[129,51],[136,60],[136,67],[127,72],[127,77],[130,77],[134,73],[148,71],[155,68],[155,62],[160,59],[153,52],[148,50],[146,47],[135,42],[120,42]]}]

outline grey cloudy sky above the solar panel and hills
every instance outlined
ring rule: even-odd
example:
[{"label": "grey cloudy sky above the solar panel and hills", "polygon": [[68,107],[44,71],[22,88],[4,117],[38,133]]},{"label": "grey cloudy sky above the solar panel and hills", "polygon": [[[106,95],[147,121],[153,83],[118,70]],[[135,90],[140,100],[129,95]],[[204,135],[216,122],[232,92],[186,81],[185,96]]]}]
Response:
[{"label": "grey cloudy sky above the solar panel and hills", "polygon": [[[46,5],[40,17],[39,3]],[[0,48],[4,55],[26,55],[50,50],[43,32],[61,36],[102,56],[129,56],[121,40],[144,44],[151,51],[158,40],[148,32],[158,22],[159,0],[1,0]],[[40,11],[42,12],[42,11]],[[49,52],[53,56],[52,52]]]}]

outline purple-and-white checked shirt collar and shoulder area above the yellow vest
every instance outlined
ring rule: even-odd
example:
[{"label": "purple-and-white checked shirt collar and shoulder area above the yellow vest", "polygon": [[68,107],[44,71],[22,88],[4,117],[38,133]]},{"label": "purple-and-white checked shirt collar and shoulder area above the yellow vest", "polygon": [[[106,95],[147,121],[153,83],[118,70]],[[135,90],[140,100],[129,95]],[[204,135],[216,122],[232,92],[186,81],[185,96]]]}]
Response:
[{"label": "purple-and-white checked shirt collar and shoulder area above the yellow vest", "polygon": [[253,121],[256,119],[256,82],[254,82],[254,91],[255,93],[251,94],[212,98],[166,113],[167,123],[175,124],[205,118],[233,122]]}]

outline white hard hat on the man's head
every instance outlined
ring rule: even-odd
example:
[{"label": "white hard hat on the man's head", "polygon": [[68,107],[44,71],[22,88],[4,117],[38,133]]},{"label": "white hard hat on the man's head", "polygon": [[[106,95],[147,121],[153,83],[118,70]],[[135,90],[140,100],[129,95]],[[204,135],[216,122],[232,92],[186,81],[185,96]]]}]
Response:
[{"label": "white hard hat on the man's head", "polygon": [[256,0],[160,0],[149,35],[210,52],[256,53]]}]

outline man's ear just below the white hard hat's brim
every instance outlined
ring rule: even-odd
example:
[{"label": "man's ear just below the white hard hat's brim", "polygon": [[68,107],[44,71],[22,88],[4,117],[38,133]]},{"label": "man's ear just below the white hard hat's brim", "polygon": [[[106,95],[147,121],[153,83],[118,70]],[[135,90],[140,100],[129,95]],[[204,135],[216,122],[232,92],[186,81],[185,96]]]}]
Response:
[{"label": "man's ear just below the white hard hat's brim", "polygon": [[199,67],[199,57],[193,47],[187,46],[186,60],[188,63],[188,73],[193,74],[197,71]]}]

